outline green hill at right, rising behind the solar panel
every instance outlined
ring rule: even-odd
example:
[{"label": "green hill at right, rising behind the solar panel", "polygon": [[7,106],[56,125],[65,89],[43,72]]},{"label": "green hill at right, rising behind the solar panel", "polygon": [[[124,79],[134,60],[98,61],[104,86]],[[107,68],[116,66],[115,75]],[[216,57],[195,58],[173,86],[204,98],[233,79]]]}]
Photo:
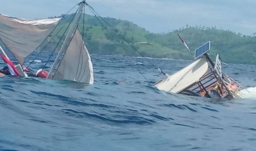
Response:
[{"label": "green hill at right, rising behind the solar panel", "polygon": [[164,47],[186,52],[184,45],[181,45],[177,33],[182,35],[191,50],[211,41],[210,55],[214,57],[219,53],[222,60],[228,63],[256,64],[256,37],[242,37],[232,31],[220,29],[198,29],[190,27],[171,33],[148,37]]}]

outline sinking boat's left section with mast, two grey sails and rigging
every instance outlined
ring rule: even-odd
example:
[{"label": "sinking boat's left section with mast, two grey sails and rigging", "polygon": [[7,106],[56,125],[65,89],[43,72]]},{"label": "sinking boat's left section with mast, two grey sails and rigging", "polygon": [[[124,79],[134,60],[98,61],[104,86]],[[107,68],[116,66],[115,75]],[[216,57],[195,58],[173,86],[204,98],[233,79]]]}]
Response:
[{"label": "sinking boat's left section with mast, two grey sails and rigging", "polygon": [[[36,50],[39,51],[38,55],[40,55],[54,37],[58,37],[56,35],[60,33],[60,30],[57,31],[56,27],[65,16],[62,18],[29,20],[0,14],[0,40],[18,62],[17,65],[14,65],[0,45],[2,52],[0,55],[7,65],[0,70],[0,75],[36,76],[93,84],[92,61],[84,44],[83,36],[78,29],[81,16],[85,13],[83,11],[86,4],[85,0],[80,2],[76,13],[68,24],[58,28],[63,29],[64,32],[61,36],[58,35],[61,38],[58,39],[58,44],[52,50],[54,52],[57,48],[60,48],[49,72],[44,69],[34,72],[28,68],[31,63],[28,66],[24,65],[24,59]],[[50,57],[52,55],[49,56],[49,60]]]}]

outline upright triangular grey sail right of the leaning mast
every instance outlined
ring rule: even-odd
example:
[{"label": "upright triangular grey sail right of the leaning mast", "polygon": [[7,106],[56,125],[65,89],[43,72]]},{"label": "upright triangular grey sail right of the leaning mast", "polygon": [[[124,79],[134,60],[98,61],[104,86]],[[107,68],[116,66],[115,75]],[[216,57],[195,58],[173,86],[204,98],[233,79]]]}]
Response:
[{"label": "upright triangular grey sail right of the leaning mast", "polygon": [[94,77],[91,57],[78,29],[76,29],[52,78],[93,84]]}]

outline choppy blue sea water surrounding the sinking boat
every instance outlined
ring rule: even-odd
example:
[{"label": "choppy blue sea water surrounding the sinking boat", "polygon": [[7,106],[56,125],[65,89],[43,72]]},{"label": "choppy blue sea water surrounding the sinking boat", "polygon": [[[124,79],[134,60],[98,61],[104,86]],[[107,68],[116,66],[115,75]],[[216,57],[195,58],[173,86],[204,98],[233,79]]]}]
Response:
[{"label": "choppy blue sea water surrounding the sinking boat", "polygon": [[[43,67],[44,58],[32,64]],[[0,150],[256,150],[256,97],[232,101],[160,92],[147,61],[92,55],[94,85],[0,77]],[[150,59],[167,73],[189,61]],[[2,65],[2,64],[1,64]],[[255,90],[256,67],[224,71]],[[256,92],[256,91],[255,91]]]}]

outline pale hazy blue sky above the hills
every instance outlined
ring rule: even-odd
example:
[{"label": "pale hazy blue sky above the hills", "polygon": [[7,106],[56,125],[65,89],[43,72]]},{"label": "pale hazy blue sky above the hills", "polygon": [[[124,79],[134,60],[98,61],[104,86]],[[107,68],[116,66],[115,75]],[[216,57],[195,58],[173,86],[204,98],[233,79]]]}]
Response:
[{"label": "pale hazy blue sky above the hills", "polygon": [[[80,0],[0,0],[0,14],[48,18],[66,14]],[[236,33],[256,32],[256,0],[86,0],[98,14],[129,20],[150,32],[186,24],[216,26]],[[86,10],[90,14],[90,10]]]}]

